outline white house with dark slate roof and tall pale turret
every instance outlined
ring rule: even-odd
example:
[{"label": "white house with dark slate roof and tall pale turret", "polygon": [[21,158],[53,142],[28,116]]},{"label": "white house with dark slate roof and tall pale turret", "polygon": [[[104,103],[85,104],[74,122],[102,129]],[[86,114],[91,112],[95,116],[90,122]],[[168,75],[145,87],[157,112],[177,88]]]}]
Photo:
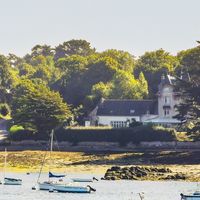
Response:
[{"label": "white house with dark slate roof and tall pale turret", "polygon": [[157,99],[153,100],[102,99],[89,114],[85,125],[121,128],[128,127],[133,120],[143,124],[176,125],[180,123],[174,118],[176,105],[181,99],[174,89],[174,83],[174,77],[162,76]]}]

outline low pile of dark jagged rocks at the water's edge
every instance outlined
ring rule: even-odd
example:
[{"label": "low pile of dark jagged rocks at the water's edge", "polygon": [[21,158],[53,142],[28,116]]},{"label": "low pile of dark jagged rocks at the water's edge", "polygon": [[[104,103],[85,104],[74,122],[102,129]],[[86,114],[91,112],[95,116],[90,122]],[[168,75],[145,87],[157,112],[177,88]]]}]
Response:
[{"label": "low pile of dark jagged rocks at the water's edge", "polygon": [[186,174],[173,172],[164,167],[113,166],[104,175],[104,180],[186,180]]}]

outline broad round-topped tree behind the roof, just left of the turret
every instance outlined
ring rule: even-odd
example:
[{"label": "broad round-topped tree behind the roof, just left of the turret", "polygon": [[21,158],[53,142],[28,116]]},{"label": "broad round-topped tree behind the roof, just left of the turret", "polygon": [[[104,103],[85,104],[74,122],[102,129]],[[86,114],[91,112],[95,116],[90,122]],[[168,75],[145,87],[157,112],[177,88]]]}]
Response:
[{"label": "broad round-topped tree behind the roof, just left of the turret", "polygon": [[149,86],[149,96],[155,97],[162,74],[173,74],[177,65],[178,60],[175,56],[159,49],[142,55],[136,63],[134,73],[136,77],[139,76],[140,72],[144,73]]}]

